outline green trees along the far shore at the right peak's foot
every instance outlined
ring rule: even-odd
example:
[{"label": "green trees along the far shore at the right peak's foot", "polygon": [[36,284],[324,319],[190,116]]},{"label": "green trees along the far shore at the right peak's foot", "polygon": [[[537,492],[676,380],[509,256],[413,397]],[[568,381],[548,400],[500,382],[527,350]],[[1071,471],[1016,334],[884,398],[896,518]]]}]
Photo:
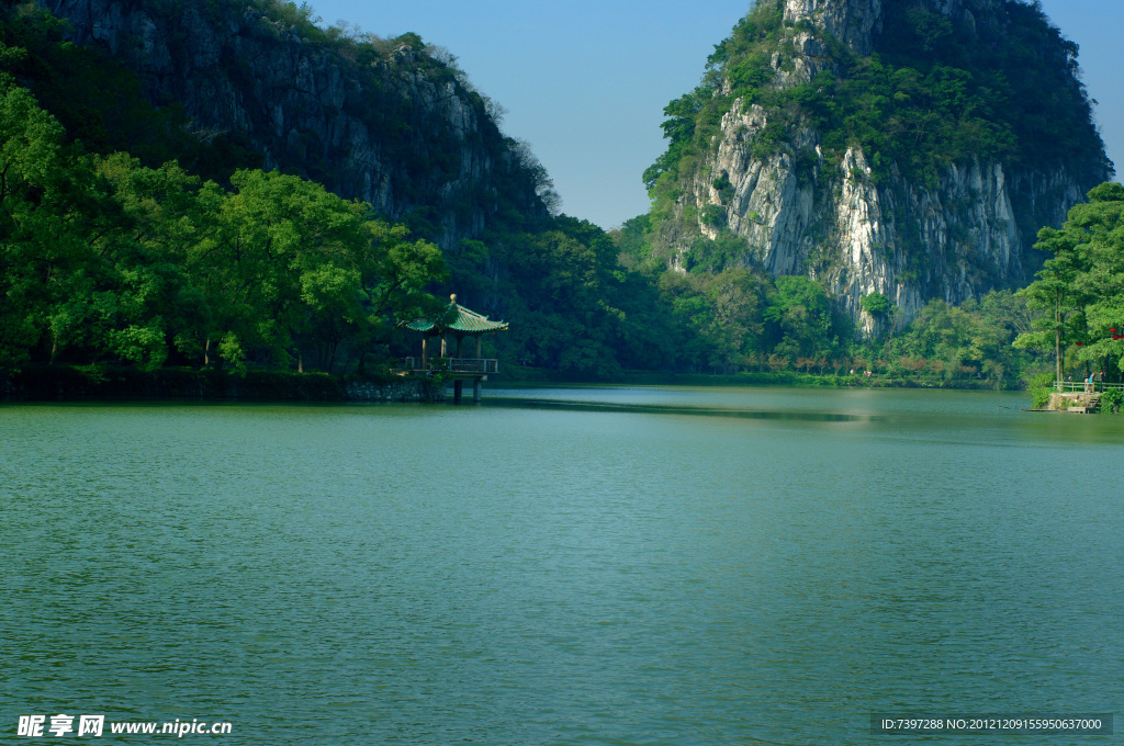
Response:
[{"label": "green trees along the far shore at the right peak's foot", "polygon": [[[637,266],[647,245],[650,217],[626,224],[615,238],[623,261]],[[694,252],[694,249],[692,249]],[[901,331],[862,340],[850,320],[835,313],[823,288],[804,276],[773,280],[754,269],[714,272],[649,270],[656,278],[670,318],[689,333],[679,347],[680,370],[713,373],[847,374],[852,369],[926,385],[1025,385],[1045,362],[1013,346],[1031,331],[1036,312],[1009,291],[953,307],[934,300]],[[872,315],[894,308],[880,293],[863,299]]]}]

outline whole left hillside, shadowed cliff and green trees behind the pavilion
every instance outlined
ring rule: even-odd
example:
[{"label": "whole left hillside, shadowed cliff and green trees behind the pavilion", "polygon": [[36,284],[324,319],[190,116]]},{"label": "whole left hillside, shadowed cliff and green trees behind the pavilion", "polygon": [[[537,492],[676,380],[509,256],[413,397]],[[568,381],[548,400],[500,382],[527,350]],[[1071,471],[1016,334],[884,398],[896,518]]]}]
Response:
[{"label": "whole left hillside, shadowed cliff and green trees behind the pavilion", "polygon": [[285,2],[55,7],[0,15],[6,366],[386,367],[450,291],[506,360],[653,366],[654,290],[447,52]]}]

